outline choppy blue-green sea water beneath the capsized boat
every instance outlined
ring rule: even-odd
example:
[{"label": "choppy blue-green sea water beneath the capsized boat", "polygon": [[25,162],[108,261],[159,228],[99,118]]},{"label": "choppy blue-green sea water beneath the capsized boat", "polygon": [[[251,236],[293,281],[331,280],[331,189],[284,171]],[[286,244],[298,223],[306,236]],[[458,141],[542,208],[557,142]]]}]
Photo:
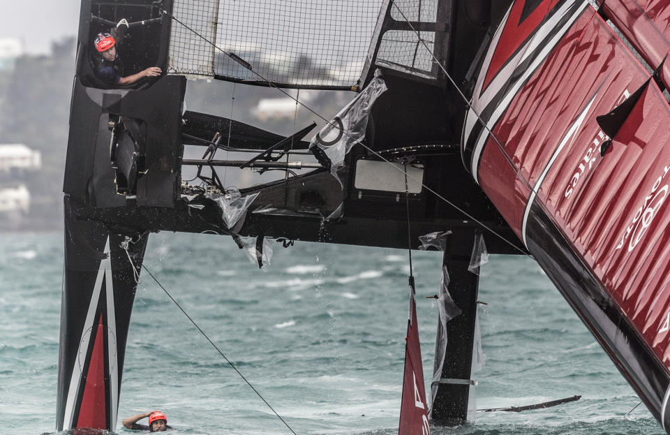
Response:
[{"label": "choppy blue-green sea water beneath the capsized boat", "polygon": [[[426,385],[441,255],[413,254]],[[274,245],[267,272],[228,237],[151,235],[144,265],[296,434],[397,434],[406,251]],[[0,236],[0,434],[54,432],[62,235]],[[433,434],[662,434],[544,272],[491,256],[479,307],[486,364],[477,408],[581,395],[522,413],[476,413]],[[145,273],[128,334],[117,434],[161,409],[173,434],[290,434]],[[64,434],[66,432],[61,432]]]}]

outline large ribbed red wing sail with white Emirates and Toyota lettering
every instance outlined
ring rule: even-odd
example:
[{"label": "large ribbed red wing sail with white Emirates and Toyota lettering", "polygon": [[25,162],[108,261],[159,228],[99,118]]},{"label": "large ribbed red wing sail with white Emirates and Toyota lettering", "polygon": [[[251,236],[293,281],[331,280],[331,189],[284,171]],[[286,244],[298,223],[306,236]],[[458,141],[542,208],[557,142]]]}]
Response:
[{"label": "large ribbed red wing sail with white Emirates and Toyota lettering", "polygon": [[[670,106],[649,78],[588,3],[515,1],[479,73],[462,151],[669,431]],[[632,94],[603,147],[597,118]]]}]

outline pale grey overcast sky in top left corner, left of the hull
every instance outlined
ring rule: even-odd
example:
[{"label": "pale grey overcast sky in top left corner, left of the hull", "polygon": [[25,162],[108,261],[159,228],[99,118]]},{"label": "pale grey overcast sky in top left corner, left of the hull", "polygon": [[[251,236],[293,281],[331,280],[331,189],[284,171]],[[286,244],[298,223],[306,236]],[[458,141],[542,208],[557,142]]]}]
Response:
[{"label": "pale grey overcast sky in top left corner, left of the hull", "polygon": [[53,40],[77,36],[80,0],[0,0],[0,38],[18,38],[31,54],[47,53]]}]

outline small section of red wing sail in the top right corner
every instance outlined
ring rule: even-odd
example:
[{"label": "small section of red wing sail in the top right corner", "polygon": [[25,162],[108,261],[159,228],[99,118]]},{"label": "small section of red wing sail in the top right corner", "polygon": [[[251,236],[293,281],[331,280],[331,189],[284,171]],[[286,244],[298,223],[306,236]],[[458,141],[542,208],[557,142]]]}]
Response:
[{"label": "small section of red wing sail in the top right corner", "polygon": [[[670,1],[606,0],[602,10],[652,68],[661,64],[670,50]],[[662,75],[666,86],[669,73],[666,63]]]}]

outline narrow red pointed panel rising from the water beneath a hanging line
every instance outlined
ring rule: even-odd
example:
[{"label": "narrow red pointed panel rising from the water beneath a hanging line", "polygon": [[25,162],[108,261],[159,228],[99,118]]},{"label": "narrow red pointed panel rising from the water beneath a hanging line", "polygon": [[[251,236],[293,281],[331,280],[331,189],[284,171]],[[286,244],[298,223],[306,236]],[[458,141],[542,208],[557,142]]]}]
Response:
[{"label": "narrow red pointed panel rising from the water beneath a hanging line", "polygon": [[417,325],[417,307],[414,291],[410,289],[410,318],[405,339],[405,377],[403,401],[400,409],[399,435],[429,435],[428,406],[424,387],[424,369],[421,363],[421,344]]}]

